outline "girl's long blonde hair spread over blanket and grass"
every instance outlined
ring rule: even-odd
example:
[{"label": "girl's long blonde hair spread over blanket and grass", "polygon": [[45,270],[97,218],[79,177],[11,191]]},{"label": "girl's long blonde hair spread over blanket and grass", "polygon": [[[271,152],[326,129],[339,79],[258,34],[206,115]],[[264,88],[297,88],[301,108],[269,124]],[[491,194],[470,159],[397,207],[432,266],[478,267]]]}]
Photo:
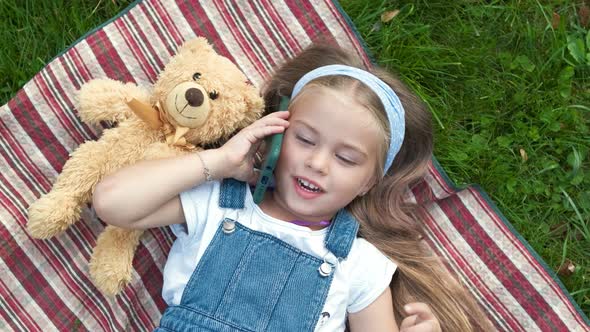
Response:
[{"label": "girl's long blonde hair spread over blanket and grass", "polygon": [[367,86],[346,76],[327,76],[312,82],[333,89],[350,89],[382,126],[385,140],[375,170],[380,180],[366,195],[353,200],[347,209],[360,223],[359,236],[398,266],[390,284],[397,323],[406,316],[405,304],[424,302],[433,310],[443,331],[493,329],[471,294],[448,275],[441,259],[433,256],[423,244],[424,228],[417,206],[403,199],[405,190],[427,172],[433,150],[433,129],[428,110],[399,79],[381,68],[364,68],[360,59],[338,47],[313,45],[278,68],[267,82],[263,89],[266,111],[275,111],[279,96],[290,96],[293,86],[305,73],[330,64],[372,72],[391,86],[405,110],[404,142],[391,168],[384,174],[390,128],[379,98]]}]

